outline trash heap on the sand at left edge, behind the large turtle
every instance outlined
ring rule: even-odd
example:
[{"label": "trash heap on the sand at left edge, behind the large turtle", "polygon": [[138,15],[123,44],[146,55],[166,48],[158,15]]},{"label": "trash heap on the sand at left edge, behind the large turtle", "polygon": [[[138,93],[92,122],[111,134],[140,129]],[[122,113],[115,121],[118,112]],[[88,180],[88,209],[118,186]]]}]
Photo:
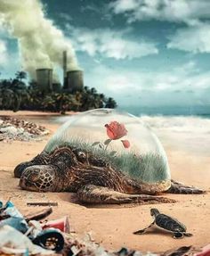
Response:
[{"label": "trash heap on the sand at left edge, behind the large turtle", "polygon": [[49,130],[33,122],[11,117],[0,118],[0,141],[30,141],[49,134]]}]

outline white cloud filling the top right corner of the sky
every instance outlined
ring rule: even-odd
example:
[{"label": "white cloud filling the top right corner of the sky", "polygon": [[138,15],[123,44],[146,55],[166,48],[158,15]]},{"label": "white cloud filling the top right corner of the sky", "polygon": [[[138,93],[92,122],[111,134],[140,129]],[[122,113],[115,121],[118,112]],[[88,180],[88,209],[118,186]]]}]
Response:
[{"label": "white cloud filling the top right corner of the sky", "polygon": [[187,27],[178,29],[169,37],[167,47],[194,54],[210,52],[210,1],[115,0],[109,4],[109,10],[124,14],[128,22],[183,22]]}]

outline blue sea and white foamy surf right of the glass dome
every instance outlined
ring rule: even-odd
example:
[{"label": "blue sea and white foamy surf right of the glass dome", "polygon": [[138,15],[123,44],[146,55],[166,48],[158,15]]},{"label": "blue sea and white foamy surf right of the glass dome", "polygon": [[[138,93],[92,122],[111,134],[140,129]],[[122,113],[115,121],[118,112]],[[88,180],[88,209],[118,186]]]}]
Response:
[{"label": "blue sea and white foamy surf right of the glass dome", "polygon": [[190,137],[204,136],[205,139],[210,139],[210,105],[125,107],[119,109],[140,117],[141,121],[156,131],[182,133]]}]

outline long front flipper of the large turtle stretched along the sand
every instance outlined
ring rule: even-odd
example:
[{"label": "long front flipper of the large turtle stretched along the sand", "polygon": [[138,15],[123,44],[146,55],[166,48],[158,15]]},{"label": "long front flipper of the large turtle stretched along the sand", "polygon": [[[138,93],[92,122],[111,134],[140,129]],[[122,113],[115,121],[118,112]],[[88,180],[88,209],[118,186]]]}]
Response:
[{"label": "long front flipper of the large turtle stretched along the sand", "polygon": [[78,200],[87,203],[161,203],[174,200],[148,194],[124,194],[104,186],[82,186],[77,191]]}]

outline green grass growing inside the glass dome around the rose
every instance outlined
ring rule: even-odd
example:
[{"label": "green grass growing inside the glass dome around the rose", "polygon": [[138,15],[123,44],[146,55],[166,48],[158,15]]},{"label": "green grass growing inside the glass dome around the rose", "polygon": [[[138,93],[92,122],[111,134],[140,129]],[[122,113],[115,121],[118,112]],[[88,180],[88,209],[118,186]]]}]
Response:
[{"label": "green grass growing inside the glass dome around the rose", "polygon": [[125,175],[136,180],[142,180],[149,183],[169,179],[169,172],[166,161],[158,153],[117,153],[113,155],[110,151],[104,151],[100,147],[93,146],[91,143],[85,143],[83,140],[72,139],[69,142],[65,138],[52,136],[52,139],[45,146],[45,152],[52,152],[60,146],[69,146],[71,148],[92,153],[96,159],[111,164]]}]

